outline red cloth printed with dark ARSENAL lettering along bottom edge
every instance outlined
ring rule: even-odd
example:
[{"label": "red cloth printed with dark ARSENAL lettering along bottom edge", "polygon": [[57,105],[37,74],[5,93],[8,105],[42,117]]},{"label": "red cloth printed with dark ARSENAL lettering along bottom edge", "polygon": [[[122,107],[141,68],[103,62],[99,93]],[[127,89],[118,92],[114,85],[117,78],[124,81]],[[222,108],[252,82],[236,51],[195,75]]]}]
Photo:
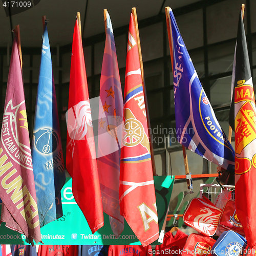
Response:
[{"label": "red cloth printed with dark ARSENAL lettering along bottom edge", "polygon": [[[108,256],[153,256],[151,245],[110,245]],[[40,255],[38,255],[40,256]]]}]

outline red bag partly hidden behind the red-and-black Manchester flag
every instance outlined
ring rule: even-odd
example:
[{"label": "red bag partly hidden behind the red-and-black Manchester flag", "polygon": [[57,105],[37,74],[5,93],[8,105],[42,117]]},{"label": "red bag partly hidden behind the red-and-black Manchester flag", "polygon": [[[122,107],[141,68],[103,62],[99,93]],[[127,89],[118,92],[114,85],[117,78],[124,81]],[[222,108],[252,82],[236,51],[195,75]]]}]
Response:
[{"label": "red bag partly hidden behind the red-and-black Manchester flag", "polygon": [[225,204],[219,224],[224,228],[231,229],[245,236],[244,228],[236,214],[236,203],[234,200],[228,200]]}]

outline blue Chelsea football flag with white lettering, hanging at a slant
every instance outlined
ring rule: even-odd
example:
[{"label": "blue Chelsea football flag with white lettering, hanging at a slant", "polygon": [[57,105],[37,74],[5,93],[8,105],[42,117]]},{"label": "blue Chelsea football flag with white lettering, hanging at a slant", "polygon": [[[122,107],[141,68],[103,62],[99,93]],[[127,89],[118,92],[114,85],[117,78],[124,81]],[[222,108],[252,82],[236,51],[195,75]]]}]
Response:
[{"label": "blue Chelsea football flag with white lettering, hanging at a slant", "polygon": [[215,116],[181,37],[172,9],[168,37],[174,75],[178,142],[205,159],[234,172],[234,150]]}]

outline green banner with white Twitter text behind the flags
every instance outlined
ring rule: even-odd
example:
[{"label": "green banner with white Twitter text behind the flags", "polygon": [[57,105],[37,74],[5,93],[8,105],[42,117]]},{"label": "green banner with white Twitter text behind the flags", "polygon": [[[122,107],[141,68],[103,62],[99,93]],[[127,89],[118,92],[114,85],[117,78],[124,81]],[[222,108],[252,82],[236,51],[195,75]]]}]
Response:
[{"label": "green banner with white Twitter text behind the flags", "polygon": [[[155,191],[159,228],[162,229],[167,207],[172,195],[174,177],[155,176]],[[72,179],[67,178],[61,190],[63,216],[41,230],[41,239],[47,245],[141,245],[130,226],[124,222],[124,230],[115,238],[109,223],[109,216],[104,214],[104,226],[92,234],[82,211],[75,202],[72,194]],[[2,205],[1,205],[2,207]],[[2,223],[0,226],[0,244],[29,244],[26,237],[16,231],[10,230]],[[158,244],[154,242],[153,244]]]}]

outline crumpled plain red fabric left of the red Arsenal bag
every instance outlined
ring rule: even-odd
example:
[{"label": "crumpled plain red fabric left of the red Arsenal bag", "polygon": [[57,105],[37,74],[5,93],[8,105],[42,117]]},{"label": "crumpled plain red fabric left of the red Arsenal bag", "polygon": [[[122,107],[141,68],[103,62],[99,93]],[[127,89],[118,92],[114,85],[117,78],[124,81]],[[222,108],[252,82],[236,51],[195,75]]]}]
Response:
[{"label": "crumpled plain red fabric left of the red Arsenal bag", "polygon": [[163,243],[161,245],[156,245],[155,254],[181,256],[182,249],[187,241],[187,238],[187,234],[181,230],[178,230],[175,236],[173,233],[170,233],[170,231],[166,232],[163,238]]}]

